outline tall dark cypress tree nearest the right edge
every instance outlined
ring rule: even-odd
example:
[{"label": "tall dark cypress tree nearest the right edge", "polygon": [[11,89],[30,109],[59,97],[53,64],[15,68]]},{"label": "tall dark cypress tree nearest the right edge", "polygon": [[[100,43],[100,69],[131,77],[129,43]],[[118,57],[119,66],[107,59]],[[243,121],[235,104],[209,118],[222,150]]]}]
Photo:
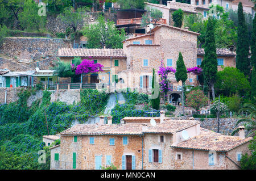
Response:
[{"label": "tall dark cypress tree nearest the right edge", "polygon": [[238,4],[238,26],[237,26],[237,60],[236,68],[241,70],[245,76],[250,74],[250,60],[249,56],[249,36],[248,29],[245,22],[245,15],[243,14],[242,3]]}]

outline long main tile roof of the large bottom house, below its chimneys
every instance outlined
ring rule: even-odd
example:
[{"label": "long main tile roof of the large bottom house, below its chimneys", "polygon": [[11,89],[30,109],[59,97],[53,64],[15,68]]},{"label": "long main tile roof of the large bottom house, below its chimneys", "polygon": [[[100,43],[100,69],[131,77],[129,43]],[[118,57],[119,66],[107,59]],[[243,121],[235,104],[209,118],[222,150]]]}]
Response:
[{"label": "long main tile roof of the large bottom house, below its chimneys", "polygon": [[144,133],[173,133],[199,124],[195,120],[168,120],[152,127],[150,123],[129,123],[129,124],[77,124],[69,128],[61,135],[105,135],[105,134],[143,134]]}]

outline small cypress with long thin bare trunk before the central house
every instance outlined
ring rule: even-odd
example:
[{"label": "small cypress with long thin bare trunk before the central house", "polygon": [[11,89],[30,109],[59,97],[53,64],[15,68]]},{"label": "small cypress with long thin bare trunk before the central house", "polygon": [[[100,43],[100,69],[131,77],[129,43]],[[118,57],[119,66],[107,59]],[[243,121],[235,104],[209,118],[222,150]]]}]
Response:
[{"label": "small cypress with long thin bare trunk before the central house", "polygon": [[181,54],[181,52],[179,52],[179,58],[176,62],[176,72],[175,72],[175,78],[176,81],[182,82],[182,107],[183,107],[183,114],[184,114],[184,85],[185,82],[187,81],[188,78],[188,74],[187,74],[187,69],[185,67],[184,61],[183,61],[183,56]]}]

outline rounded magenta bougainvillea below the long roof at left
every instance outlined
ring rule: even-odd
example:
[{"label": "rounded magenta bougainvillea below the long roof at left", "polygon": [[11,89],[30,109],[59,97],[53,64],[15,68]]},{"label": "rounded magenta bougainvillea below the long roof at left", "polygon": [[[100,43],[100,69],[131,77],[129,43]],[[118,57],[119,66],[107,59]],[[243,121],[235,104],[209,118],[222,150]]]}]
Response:
[{"label": "rounded magenta bougainvillea below the long roof at left", "polygon": [[94,64],[94,61],[92,60],[83,60],[81,64],[75,65],[71,64],[72,69],[76,69],[76,75],[79,74],[88,74],[88,73],[96,73],[99,71],[103,71],[102,68],[104,67],[101,64]]}]

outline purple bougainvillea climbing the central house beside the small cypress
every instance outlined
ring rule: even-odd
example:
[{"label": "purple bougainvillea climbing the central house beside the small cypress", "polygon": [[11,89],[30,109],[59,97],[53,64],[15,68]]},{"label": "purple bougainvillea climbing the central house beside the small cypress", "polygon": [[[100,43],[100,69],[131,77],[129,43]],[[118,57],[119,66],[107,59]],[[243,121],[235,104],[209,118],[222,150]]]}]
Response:
[{"label": "purple bougainvillea climbing the central house beside the small cypress", "polygon": [[170,66],[165,67],[163,64],[163,60],[161,61],[161,66],[159,67],[158,74],[160,75],[161,81],[159,82],[160,91],[167,92],[171,91],[171,82],[168,81],[168,73],[175,73],[176,70],[171,68]]}]

